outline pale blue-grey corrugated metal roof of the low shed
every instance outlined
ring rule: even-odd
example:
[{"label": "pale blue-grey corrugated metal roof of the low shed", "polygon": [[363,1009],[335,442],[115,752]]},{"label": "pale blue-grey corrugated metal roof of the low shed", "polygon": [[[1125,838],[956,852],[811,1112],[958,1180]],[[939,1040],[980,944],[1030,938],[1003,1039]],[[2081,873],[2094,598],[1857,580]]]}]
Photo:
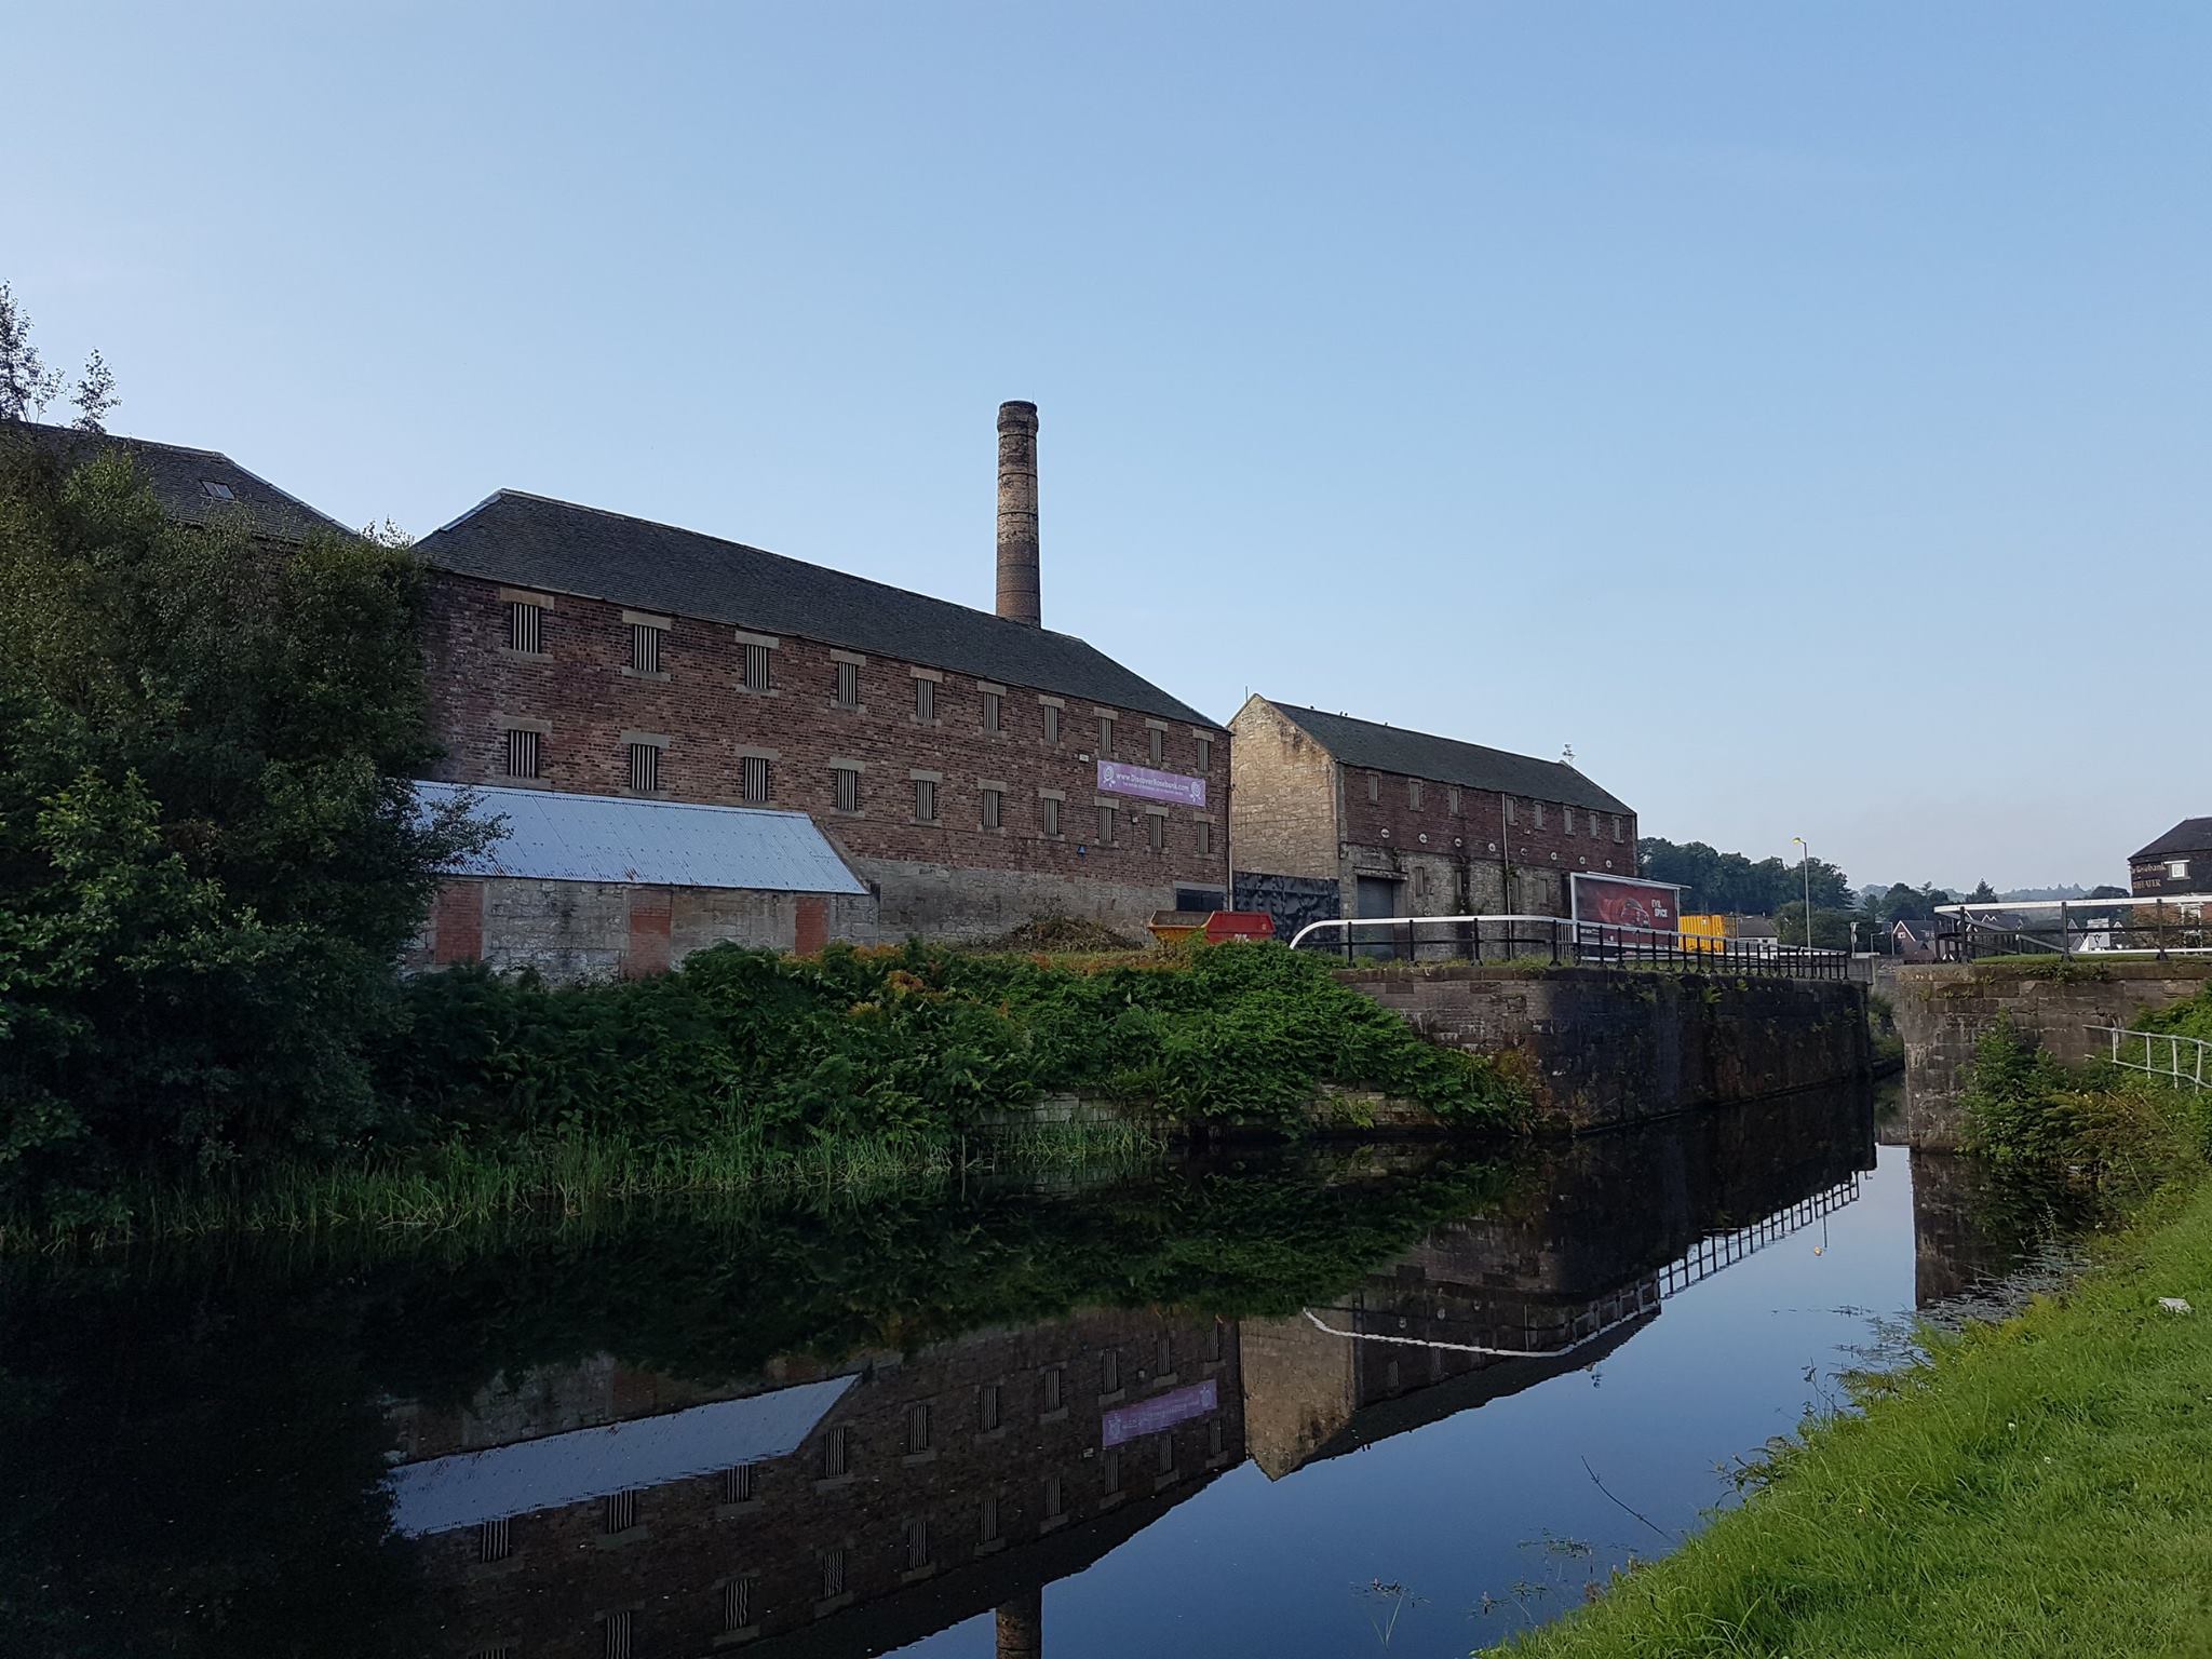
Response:
[{"label": "pale blue-grey corrugated metal roof of the low shed", "polygon": [[[451,801],[458,783],[416,783],[425,803]],[[456,865],[456,876],[611,880],[648,887],[752,887],[772,894],[865,894],[830,838],[803,812],[701,807],[560,790],[471,790],[480,818],[507,836]]]}]

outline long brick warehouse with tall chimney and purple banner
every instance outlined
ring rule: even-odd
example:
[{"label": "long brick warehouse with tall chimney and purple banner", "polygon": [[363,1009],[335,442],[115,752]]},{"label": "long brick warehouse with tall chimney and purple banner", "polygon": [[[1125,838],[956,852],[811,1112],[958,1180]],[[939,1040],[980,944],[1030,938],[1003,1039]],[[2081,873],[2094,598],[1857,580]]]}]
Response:
[{"label": "long brick warehouse with tall chimney and purple banner", "polygon": [[451,783],[810,814],[887,938],[1124,933],[1228,896],[1228,732],[1040,624],[1035,407],[1000,407],[998,613],[500,491],[425,538]]}]

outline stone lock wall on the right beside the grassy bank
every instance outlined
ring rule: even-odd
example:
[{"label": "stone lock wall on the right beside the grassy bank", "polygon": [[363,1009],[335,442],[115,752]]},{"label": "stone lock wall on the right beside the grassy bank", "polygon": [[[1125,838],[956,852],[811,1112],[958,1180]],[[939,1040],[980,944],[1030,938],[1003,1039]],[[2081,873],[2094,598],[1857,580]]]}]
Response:
[{"label": "stone lock wall on the right beside the grassy bank", "polygon": [[[2053,962],[2055,967],[2055,962]],[[2066,978],[2028,962],[1929,962],[1898,969],[1889,993],[1905,1037],[1905,1137],[1911,1146],[1960,1144],[1962,1093],[1975,1044],[2008,1018],[2066,1064],[2110,1053],[2090,1026],[2126,1026],[2141,1013],[2197,995],[2205,958],[2075,962]]]}]

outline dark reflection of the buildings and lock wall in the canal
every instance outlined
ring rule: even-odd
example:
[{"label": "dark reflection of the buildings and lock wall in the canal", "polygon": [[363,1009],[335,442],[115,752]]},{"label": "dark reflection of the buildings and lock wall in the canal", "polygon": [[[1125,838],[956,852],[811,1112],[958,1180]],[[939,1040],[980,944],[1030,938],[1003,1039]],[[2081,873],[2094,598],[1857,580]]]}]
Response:
[{"label": "dark reflection of the buildings and lock wall in the canal", "polygon": [[394,1520],[447,1652],[885,1652],[995,1613],[1252,1458],[1267,1478],[1586,1367],[1666,1298],[1858,1194],[1863,1097],[1809,1093],[1542,1155],[1290,1318],[1091,1312],[723,1389],[611,1358],[394,1402]]}]

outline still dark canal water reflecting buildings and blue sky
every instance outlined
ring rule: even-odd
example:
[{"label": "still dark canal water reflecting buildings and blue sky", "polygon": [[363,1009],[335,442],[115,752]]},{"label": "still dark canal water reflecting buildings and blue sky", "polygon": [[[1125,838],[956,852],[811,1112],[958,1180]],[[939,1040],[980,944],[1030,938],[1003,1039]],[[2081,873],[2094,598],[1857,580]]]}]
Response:
[{"label": "still dark canal water reflecting buildings and blue sky", "polygon": [[[31,1655],[1464,1655],[2006,1272],[1805,1093],[0,1272]],[[15,1644],[22,1644],[20,1648]]]}]

